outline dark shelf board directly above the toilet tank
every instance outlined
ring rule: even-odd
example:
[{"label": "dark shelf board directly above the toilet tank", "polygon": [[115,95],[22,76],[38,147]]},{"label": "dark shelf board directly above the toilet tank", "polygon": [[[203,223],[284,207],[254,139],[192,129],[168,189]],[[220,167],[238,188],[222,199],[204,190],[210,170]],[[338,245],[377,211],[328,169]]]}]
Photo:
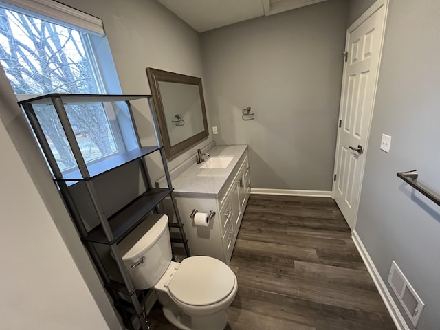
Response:
[{"label": "dark shelf board directly above the toilet tank", "polygon": [[83,240],[101,244],[118,243],[144,219],[148,212],[153,210],[157,203],[170,195],[172,191],[172,189],[168,188],[147,190],[140,197],[137,197],[137,199],[125,206],[125,208],[113,214],[109,218],[109,225],[114,236],[113,241],[107,241],[101,225],[91,230],[89,236],[83,237]]}]

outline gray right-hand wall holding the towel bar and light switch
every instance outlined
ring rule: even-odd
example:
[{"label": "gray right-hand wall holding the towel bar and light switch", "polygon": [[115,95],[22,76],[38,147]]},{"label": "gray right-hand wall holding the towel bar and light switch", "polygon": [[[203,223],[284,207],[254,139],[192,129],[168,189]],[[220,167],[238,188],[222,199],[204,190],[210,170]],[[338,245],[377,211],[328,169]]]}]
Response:
[{"label": "gray right-hand wall holding the towel bar and light switch", "polygon": [[[423,330],[440,325],[440,206],[396,172],[417,169],[440,191],[439,17],[438,0],[390,1],[356,223],[383,280],[395,260],[426,303]],[[389,154],[380,151],[382,133],[393,137]]]}]

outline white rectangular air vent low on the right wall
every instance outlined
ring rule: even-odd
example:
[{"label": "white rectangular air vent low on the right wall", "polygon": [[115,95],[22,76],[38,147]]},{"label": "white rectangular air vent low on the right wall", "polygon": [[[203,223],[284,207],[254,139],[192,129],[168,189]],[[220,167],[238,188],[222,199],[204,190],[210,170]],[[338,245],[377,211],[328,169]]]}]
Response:
[{"label": "white rectangular air vent low on the right wall", "polygon": [[425,304],[423,304],[423,301],[421,301],[419,295],[412,288],[404,276],[404,273],[401,272],[395,261],[391,263],[388,283],[390,283],[391,289],[393,289],[402,307],[404,307],[404,310],[406,311],[406,314],[408,314],[412,325],[417,327],[417,322],[419,322],[419,317],[423,311],[423,307],[425,307]]}]

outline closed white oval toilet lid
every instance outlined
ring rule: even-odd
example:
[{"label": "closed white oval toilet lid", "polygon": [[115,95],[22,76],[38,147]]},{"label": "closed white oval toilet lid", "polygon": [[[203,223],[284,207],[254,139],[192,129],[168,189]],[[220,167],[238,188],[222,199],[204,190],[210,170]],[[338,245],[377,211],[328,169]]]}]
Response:
[{"label": "closed white oval toilet lid", "polygon": [[184,259],[168,289],[174,298],[195,306],[223,300],[234,289],[235,274],[230,267],[210,256]]}]

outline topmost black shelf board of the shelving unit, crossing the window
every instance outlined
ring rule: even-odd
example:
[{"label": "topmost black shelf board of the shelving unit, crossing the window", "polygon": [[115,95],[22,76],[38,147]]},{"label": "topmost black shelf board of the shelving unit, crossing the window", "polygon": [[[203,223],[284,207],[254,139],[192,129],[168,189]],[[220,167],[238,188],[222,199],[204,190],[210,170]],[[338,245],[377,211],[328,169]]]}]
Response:
[{"label": "topmost black shelf board of the shelving unit, crossing the window", "polygon": [[80,104],[93,102],[121,102],[139,100],[141,98],[151,98],[148,94],[65,94],[65,93],[51,93],[36,98],[29,98],[28,100],[20,101],[19,104],[53,104],[52,98],[61,98],[66,104]]}]

